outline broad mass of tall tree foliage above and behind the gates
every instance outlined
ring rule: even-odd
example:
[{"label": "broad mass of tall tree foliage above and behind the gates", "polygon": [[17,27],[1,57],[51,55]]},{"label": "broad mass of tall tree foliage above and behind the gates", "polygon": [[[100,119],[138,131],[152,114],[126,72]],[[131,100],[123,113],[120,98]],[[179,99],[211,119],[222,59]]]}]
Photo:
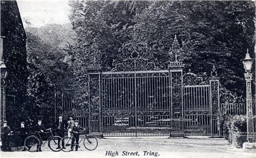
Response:
[{"label": "broad mass of tall tree foliage above and behind the gates", "polygon": [[76,42],[67,47],[78,84],[90,46],[102,52],[102,65],[111,65],[124,42],[147,43],[155,57],[167,59],[177,35],[185,52],[185,71],[211,72],[216,65],[221,83],[245,94],[240,60],[249,49],[254,57],[254,15],[251,1],[72,1],[70,20]]}]

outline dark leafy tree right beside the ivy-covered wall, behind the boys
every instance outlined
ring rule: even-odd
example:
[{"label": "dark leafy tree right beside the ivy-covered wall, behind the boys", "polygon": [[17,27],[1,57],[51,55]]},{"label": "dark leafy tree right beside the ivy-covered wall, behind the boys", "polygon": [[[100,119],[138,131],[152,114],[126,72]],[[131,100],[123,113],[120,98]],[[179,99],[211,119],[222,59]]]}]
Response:
[{"label": "dark leafy tree right beside the ivy-covered wall, behind the boys", "polygon": [[31,120],[43,119],[45,123],[52,124],[53,116],[47,110],[54,107],[54,85],[51,84],[49,76],[42,73],[42,66],[36,60],[28,56],[28,88],[26,94],[28,100],[25,102],[26,118]]}]

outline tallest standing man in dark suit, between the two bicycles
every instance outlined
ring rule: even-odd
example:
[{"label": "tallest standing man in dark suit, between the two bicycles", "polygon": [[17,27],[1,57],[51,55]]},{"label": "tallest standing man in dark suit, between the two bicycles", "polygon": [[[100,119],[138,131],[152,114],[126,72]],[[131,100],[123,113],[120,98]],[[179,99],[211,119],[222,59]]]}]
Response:
[{"label": "tallest standing man in dark suit, between the two bicycles", "polygon": [[[57,136],[64,137],[65,136],[65,122],[62,119],[63,115],[59,114],[59,120],[55,123],[56,133]],[[64,140],[61,141],[62,149],[66,149],[64,146]],[[60,139],[58,139],[58,147],[57,149],[60,149]]]}]

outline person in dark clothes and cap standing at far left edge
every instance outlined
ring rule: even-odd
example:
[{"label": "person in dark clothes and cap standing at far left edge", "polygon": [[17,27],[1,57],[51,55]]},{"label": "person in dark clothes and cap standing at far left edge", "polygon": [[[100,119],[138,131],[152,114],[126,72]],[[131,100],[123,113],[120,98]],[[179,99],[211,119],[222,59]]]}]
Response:
[{"label": "person in dark clothes and cap standing at far left edge", "polygon": [[10,141],[8,136],[8,134],[11,132],[11,129],[9,126],[7,126],[7,121],[4,121],[3,124],[4,125],[1,127],[1,141],[2,141],[3,151],[6,152],[8,150],[12,152],[13,150],[9,146]]}]

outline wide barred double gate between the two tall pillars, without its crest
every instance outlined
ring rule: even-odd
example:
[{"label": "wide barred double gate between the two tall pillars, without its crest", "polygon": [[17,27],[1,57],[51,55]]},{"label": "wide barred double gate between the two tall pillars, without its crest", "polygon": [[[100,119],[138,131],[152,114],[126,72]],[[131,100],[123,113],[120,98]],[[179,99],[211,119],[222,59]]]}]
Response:
[{"label": "wide barred double gate between the two tall pillars, without its crest", "polygon": [[169,135],[168,71],[103,73],[105,136]]}]

